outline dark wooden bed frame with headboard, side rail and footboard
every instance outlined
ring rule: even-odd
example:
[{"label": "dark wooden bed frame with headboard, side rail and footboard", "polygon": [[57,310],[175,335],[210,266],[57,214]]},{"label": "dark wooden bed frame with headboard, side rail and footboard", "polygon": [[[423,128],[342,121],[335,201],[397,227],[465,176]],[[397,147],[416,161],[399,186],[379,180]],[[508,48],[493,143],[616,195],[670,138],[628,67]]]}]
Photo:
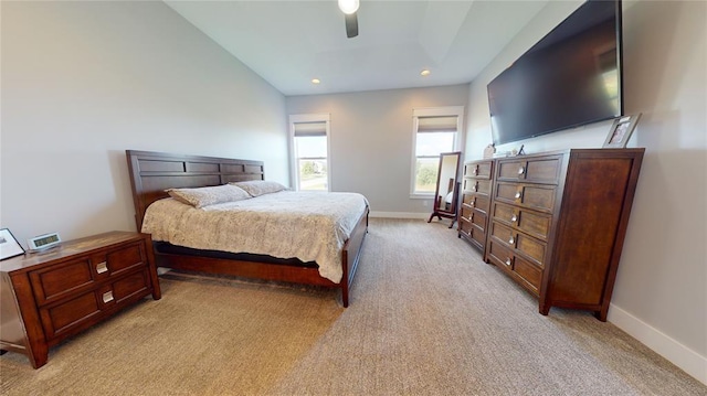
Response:
[{"label": "dark wooden bed frame with headboard, side rail and footboard", "polygon": [[[163,152],[126,150],[135,221],[143,228],[147,206],[168,197],[170,188],[198,188],[228,182],[264,180],[263,162],[214,157],[180,156]],[[157,266],[208,274],[276,280],[341,289],[341,303],[349,306],[349,289],[356,275],[363,239],[368,232],[368,207],[361,214],[341,251],[342,278],[339,283],[319,276],[317,268],[255,260],[235,260],[202,256],[182,256],[155,251]]]}]

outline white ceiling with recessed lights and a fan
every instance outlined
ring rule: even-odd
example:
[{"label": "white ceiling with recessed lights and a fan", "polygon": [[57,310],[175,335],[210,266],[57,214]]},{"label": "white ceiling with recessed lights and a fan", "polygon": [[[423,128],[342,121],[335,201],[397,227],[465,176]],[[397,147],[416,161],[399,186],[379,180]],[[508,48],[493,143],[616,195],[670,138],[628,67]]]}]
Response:
[{"label": "white ceiling with recessed lights and a fan", "polygon": [[468,83],[548,1],[361,0],[354,39],[336,0],[165,2],[292,96]]}]

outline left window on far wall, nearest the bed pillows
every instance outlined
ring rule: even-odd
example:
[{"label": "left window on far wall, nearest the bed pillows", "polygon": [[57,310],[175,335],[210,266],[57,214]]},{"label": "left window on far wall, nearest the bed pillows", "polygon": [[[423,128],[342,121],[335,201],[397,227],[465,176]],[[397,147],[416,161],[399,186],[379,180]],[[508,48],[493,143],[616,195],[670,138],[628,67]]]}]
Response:
[{"label": "left window on far wall, nearest the bed pillows", "polygon": [[329,115],[289,116],[295,190],[329,191]]}]

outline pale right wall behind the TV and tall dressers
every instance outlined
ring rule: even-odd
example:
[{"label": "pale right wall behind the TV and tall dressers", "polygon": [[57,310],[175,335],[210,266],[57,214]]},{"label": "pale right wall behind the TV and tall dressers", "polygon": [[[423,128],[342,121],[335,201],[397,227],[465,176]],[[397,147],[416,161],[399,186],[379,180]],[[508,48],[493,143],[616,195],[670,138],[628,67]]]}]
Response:
[{"label": "pale right wall behind the TV and tall dressers", "polygon": [[[467,157],[490,142],[486,84],[579,2],[551,2],[472,83]],[[609,320],[707,383],[707,3],[624,1],[624,105],[646,154]],[[610,122],[509,143],[601,147]]]}]

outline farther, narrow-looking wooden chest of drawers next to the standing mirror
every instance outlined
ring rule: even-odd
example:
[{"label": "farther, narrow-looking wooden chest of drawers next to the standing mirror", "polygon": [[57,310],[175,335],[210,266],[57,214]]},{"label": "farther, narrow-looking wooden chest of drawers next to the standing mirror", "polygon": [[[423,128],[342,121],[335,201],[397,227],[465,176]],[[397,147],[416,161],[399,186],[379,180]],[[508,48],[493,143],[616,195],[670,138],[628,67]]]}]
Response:
[{"label": "farther, narrow-looking wooden chest of drawers next to the standing mirror", "polygon": [[494,160],[464,163],[457,235],[484,255],[490,208]]}]

